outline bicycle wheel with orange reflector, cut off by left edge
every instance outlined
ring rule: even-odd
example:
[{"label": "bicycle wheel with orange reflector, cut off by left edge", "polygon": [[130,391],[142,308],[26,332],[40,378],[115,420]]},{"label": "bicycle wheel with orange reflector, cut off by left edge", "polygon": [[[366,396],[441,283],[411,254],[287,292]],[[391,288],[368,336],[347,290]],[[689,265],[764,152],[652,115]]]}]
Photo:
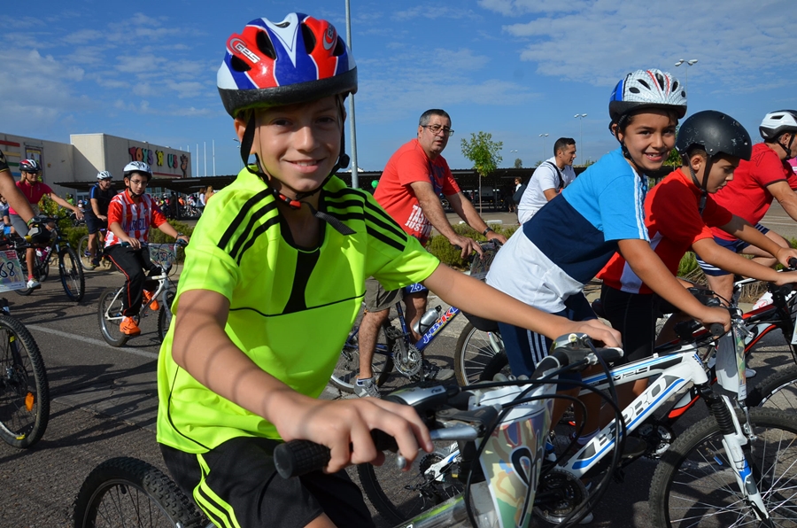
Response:
[{"label": "bicycle wheel with orange reflector, cut off by left edge", "polygon": [[33,446],[49,421],[50,385],[42,353],[24,324],[0,314],[0,438],[14,447]]}]

